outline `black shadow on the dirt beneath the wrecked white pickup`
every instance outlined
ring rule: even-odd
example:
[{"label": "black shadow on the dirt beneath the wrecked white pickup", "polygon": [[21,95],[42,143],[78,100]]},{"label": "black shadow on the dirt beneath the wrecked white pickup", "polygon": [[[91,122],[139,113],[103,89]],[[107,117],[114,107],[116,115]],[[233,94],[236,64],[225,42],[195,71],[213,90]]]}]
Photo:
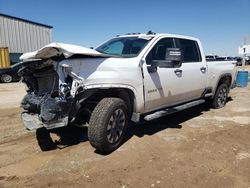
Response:
[{"label": "black shadow on the dirt beneath the wrecked white pickup", "polygon": [[[232,99],[229,99],[229,101]],[[172,115],[168,115],[156,120],[142,123],[129,123],[124,143],[126,143],[133,136],[143,137],[145,135],[154,135],[165,129],[181,129],[182,123],[200,116],[210,108],[206,104],[202,104]],[[54,138],[56,137],[56,139]],[[64,149],[81,142],[88,141],[88,131],[86,127],[68,126],[63,128],[54,129],[51,131],[45,128],[37,129],[36,138],[38,145],[42,151],[50,151],[54,149]],[[95,151],[96,153],[105,155]]]}]

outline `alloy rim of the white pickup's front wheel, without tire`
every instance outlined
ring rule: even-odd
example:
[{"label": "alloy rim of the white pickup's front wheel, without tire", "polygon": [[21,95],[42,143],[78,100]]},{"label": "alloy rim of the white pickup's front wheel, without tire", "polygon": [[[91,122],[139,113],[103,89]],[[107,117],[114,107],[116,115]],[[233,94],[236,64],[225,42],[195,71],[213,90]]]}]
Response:
[{"label": "alloy rim of the white pickup's front wheel, without tire", "polygon": [[107,126],[107,139],[109,143],[114,144],[122,136],[125,126],[125,113],[122,109],[117,109],[111,115]]}]

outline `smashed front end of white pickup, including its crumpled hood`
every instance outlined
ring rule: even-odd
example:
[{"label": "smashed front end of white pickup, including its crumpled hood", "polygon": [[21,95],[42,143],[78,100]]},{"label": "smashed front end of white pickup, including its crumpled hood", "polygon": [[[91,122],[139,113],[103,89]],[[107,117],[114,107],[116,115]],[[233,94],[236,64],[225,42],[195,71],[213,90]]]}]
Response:
[{"label": "smashed front end of white pickup, including its crumpled hood", "polygon": [[[28,87],[21,102],[25,110],[22,119],[27,129],[53,129],[88,121],[90,112],[81,106],[86,99],[84,79],[72,71],[70,65],[62,63],[65,59],[79,57],[106,58],[110,55],[81,46],[51,43],[20,57],[23,67],[19,75]],[[77,117],[79,112],[81,118]]]}]

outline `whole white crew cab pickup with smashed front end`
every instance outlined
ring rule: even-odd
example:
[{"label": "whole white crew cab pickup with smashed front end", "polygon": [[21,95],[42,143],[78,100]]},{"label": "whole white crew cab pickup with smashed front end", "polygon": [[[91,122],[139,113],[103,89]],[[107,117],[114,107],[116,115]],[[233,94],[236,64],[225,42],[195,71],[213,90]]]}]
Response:
[{"label": "whole white crew cab pickup with smashed front end", "polygon": [[173,34],[127,34],[95,49],[52,43],[20,57],[27,129],[87,126],[90,144],[117,149],[130,120],[150,121],[210,101],[226,104],[235,62],[207,62],[201,42]]}]

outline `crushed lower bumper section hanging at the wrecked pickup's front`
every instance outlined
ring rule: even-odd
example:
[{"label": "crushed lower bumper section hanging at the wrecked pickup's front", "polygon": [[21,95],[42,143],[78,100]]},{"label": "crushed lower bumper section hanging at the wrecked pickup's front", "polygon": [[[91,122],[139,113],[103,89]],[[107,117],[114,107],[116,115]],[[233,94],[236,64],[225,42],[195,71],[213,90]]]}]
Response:
[{"label": "crushed lower bumper section hanging at the wrecked pickup's front", "polygon": [[68,125],[71,101],[49,95],[37,97],[28,94],[21,104],[27,110],[22,113],[22,120],[28,130],[40,127],[54,129]]}]

